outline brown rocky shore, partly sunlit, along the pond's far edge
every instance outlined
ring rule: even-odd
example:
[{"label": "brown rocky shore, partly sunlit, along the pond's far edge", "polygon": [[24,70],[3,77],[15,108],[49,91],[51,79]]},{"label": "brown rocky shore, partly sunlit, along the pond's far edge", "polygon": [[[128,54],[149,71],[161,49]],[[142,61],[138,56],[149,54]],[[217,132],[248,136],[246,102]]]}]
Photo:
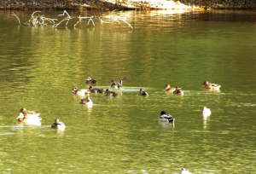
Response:
[{"label": "brown rocky shore, partly sunlit, along the pond's far edge", "polygon": [[0,10],[256,9],[256,0],[0,0]]}]

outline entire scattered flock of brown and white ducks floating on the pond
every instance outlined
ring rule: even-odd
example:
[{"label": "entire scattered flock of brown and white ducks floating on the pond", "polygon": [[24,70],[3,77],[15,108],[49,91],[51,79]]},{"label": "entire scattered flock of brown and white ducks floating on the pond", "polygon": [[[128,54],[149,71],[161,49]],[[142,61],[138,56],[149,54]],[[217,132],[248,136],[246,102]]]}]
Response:
[{"label": "entire scattered flock of brown and white ducks floating on the pond", "polygon": [[[130,78],[121,78],[117,81],[115,81],[114,79],[111,81],[111,87],[114,89],[120,89],[123,85],[123,82],[125,80],[128,80]],[[85,80],[85,84],[97,84],[97,80],[96,79],[91,79],[91,78],[86,78]],[[212,84],[209,83],[208,81],[205,81],[202,84],[202,88],[206,88],[206,89],[212,89],[212,90],[219,90],[220,85],[218,84]],[[170,84],[166,84],[166,92],[173,92],[173,94],[177,94],[177,95],[183,95],[183,90],[181,90],[181,87],[171,87]],[[85,96],[85,98],[83,98],[79,103],[80,104],[86,104],[86,105],[92,105],[93,102],[90,100],[90,93],[104,93],[104,90],[102,89],[95,89],[92,86],[89,87],[89,90],[80,90],[78,89],[78,87],[73,86],[72,88],[72,93],[79,95],[79,96]],[[109,89],[105,90],[105,96],[118,96],[117,93],[110,91]],[[148,96],[148,93],[146,91],[143,91],[143,89],[141,88],[139,91],[138,96]],[[204,116],[208,116],[210,115],[212,112],[209,108],[207,107],[203,107],[203,109],[201,110],[201,113]],[[40,122],[42,119],[39,117],[40,113],[31,111],[31,110],[26,110],[25,107],[22,107],[20,109],[20,112],[18,114],[18,117],[16,118],[19,122],[25,122],[25,123],[34,123],[34,122]],[[167,114],[165,111],[162,111],[160,113],[160,117],[158,119],[159,121],[166,121],[169,123],[172,123],[174,125],[174,118],[172,117],[172,115]],[[64,123],[62,123],[60,121],[59,118],[55,119],[55,122],[51,125],[51,128],[59,128],[59,129],[65,129],[65,125]],[[180,171],[180,174],[191,174],[189,171],[186,171],[185,168],[182,168],[182,170]]]}]

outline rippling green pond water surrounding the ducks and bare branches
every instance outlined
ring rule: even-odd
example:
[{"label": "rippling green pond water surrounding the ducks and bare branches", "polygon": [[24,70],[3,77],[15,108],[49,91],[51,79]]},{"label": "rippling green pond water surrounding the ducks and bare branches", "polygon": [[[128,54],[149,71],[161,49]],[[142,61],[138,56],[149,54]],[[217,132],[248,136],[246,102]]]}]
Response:
[{"label": "rippling green pond water surrounding the ducks and bare branches", "polygon": [[[21,25],[0,11],[2,173],[255,173],[256,11],[68,13],[124,15],[133,29],[97,19],[74,28],[77,18],[26,26],[32,11],[15,11]],[[71,88],[88,89],[88,77],[104,90],[131,79],[117,97],[90,94],[86,107]],[[202,89],[206,80],[220,90]],[[19,124],[21,107],[41,113],[42,124]],[[158,122],[162,110],[174,126]],[[64,131],[50,128],[56,117]]]}]

